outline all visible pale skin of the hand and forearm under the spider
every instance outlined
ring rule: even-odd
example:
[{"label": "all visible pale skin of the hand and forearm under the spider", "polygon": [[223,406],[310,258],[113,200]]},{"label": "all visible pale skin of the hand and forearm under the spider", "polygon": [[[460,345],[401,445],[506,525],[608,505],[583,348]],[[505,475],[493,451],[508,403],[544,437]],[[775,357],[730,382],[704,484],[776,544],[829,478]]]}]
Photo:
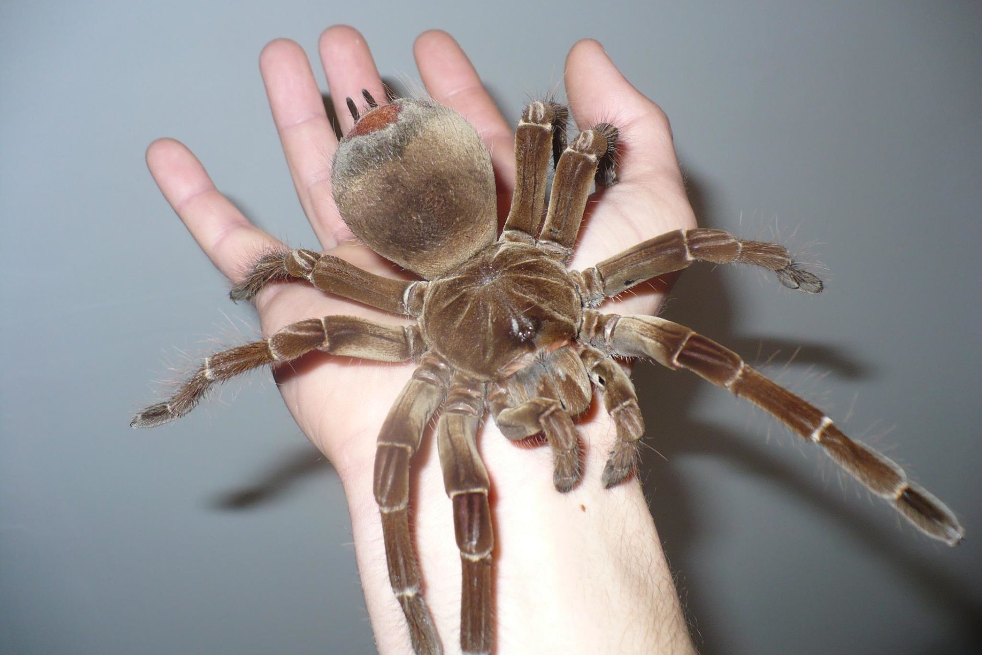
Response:
[{"label": "all visible pale skin of the hand and forearm under the spider", "polygon": [[[360,98],[362,88],[384,98],[382,82],[364,38],[352,27],[326,29],[319,51],[341,130],[347,132],[353,119],[345,98]],[[416,39],[413,52],[428,92],[464,114],[485,139],[500,198],[510,198],[512,128],[464,51],[446,32],[432,30]],[[321,248],[366,270],[399,275],[367,248],[347,243],[351,232],[331,196],[329,166],[337,138],[300,45],[275,40],[263,49],[259,65],[300,205]],[[627,82],[594,40],[573,45],[564,82],[579,126],[613,119],[626,143],[620,183],[591,201],[570,268],[586,268],[646,239],[694,227],[662,110]],[[215,189],[182,143],[158,139],[146,158],[198,246],[233,284],[243,281],[258,253],[284,247]],[[662,300],[661,291],[643,286],[603,309],[652,314]],[[264,336],[294,321],[329,314],[390,324],[399,320],[301,283],[273,285],[255,303]],[[389,585],[372,493],[375,438],[412,368],[313,355],[276,370],[287,407],[344,484],[358,571],[383,655],[406,653],[410,647],[405,618]],[[496,521],[495,652],[542,652],[546,645],[549,652],[565,653],[694,652],[640,484],[631,479],[610,490],[601,484],[614,439],[611,421],[603,410],[591,411],[579,427],[586,444],[583,480],[560,494],[553,486],[548,448],[518,448],[493,421],[483,425],[479,447],[491,476]],[[424,442],[412,465],[412,517],[425,597],[444,648],[459,652],[460,556],[436,449]]]}]

